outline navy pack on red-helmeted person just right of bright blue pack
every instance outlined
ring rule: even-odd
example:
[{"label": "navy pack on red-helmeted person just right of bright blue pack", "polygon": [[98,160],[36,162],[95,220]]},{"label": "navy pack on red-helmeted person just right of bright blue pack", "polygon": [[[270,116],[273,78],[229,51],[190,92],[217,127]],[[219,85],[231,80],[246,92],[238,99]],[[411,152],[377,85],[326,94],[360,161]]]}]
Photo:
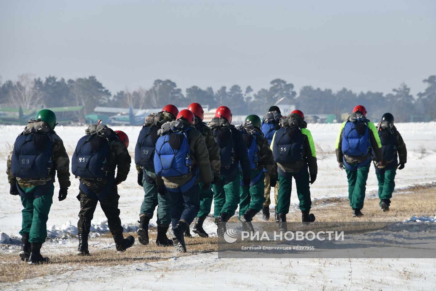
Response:
[{"label": "navy pack on red-helmeted person just right of bright blue pack", "polygon": [[235,145],[230,124],[225,118],[213,118],[208,126],[212,129],[219,146],[221,167],[228,169],[235,163]]}]

